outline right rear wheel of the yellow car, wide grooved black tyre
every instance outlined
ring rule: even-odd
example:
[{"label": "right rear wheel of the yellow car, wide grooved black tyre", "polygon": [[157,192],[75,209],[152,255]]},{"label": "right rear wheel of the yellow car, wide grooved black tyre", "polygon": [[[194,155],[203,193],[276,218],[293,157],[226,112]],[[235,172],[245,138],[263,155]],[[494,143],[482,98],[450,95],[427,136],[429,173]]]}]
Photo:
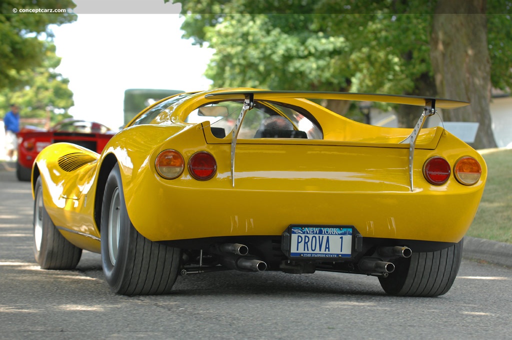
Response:
[{"label": "right rear wheel of the yellow car, wide grooved black tyre", "polygon": [[462,243],[432,252],[413,252],[409,259],[394,261],[395,271],[379,278],[389,294],[398,296],[443,295],[453,285],[462,258]]}]

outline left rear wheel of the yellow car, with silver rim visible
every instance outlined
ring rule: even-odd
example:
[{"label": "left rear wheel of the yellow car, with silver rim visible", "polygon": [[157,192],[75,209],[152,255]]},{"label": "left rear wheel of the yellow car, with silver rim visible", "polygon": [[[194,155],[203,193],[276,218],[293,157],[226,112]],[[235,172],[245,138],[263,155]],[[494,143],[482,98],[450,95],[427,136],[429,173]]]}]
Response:
[{"label": "left rear wheel of the yellow car, with silver rim visible", "polygon": [[152,242],[135,229],[126,211],[119,165],[105,184],[101,207],[101,261],[113,292],[167,294],[180,269],[181,249]]}]

